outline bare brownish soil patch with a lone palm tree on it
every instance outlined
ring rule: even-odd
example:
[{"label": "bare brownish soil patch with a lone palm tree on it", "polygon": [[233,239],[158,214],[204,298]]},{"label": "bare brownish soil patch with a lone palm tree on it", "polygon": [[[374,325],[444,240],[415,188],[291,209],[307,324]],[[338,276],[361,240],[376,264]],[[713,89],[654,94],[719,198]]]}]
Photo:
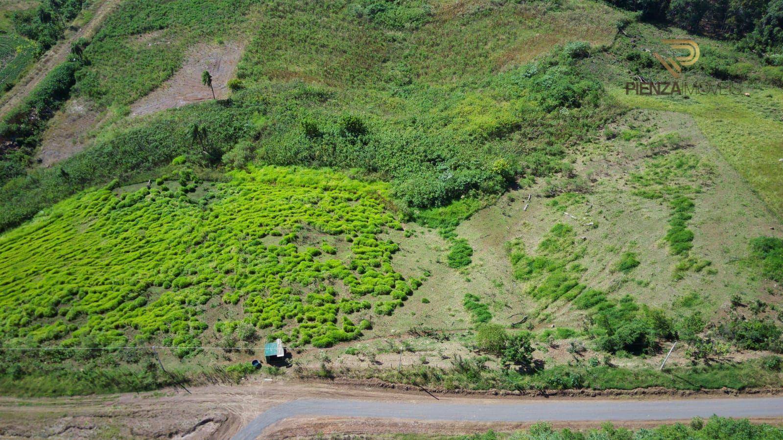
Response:
[{"label": "bare brownish soil patch with a lone palm tree on it", "polygon": [[171,79],[131,106],[131,116],[153,114],[212,99],[212,91],[201,84],[201,73],[204,70],[212,75],[215,96],[225,99],[229,96],[226,83],[233,77],[243,49],[244,46],[239,43],[202,45],[191,49],[185,65]]}]

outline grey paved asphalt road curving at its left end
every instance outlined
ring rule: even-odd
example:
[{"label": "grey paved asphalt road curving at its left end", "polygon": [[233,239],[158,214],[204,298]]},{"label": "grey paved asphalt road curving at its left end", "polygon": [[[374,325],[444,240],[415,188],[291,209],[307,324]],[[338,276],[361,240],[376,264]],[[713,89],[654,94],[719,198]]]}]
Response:
[{"label": "grey paved asphalt road curving at its left end", "polygon": [[418,403],[302,399],[275,406],[247,424],[234,440],[258,438],[288,417],[389,417],[477,422],[686,420],[692,417],[783,417],[783,398],[689,400],[550,400],[498,403]]}]

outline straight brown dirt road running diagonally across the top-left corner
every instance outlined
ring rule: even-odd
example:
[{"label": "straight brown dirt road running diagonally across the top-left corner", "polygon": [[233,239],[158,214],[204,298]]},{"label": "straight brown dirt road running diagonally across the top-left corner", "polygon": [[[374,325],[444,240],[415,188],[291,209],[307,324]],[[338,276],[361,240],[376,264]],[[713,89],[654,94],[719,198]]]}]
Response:
[{"label": "straight brown dirt road running diagonally across the top-left corner", "polygon": [[63,40],[60,40],[49,52],[46,52],[44,56],[41,56],[41,60],[35,63],[33,70],[24,75],[20,81],[16,82],[8,93],[5,93],[0,99],[0,118],[5,117],[14,107],[19,105],[27,95],[32,92],[33,88],[38,85],[49,71],[56,67],[58,64],[67,60],[70,53],[70,45],[78,38],[92,38],[93,35],[99,30],[100,25],[106,16],[119,5],[121,0],[104,0],[98,6],[95,13],[87,24],[81,27],[73,34],[67,35]]}]

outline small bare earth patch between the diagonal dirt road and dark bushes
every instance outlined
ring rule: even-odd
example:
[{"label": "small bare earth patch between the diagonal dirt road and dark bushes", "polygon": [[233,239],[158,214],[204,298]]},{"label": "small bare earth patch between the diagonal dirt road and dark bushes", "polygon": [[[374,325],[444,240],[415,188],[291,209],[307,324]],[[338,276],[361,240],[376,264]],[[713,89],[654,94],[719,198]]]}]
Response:
[{"label": "small bare earth patch between the diagonal dirt road and dark bushes", "polygon": [[85,135],[98,121],[98,110],[85,99],[71,99],[52,117],[44,133],[37,160],[49,167],[84,150]]}]

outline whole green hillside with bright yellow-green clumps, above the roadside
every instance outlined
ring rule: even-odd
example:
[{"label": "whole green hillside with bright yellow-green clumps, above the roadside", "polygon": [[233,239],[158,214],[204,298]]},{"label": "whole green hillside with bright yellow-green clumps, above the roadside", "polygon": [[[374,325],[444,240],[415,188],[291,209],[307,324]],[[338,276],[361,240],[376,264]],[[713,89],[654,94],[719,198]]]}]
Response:
[{"label": "whole green hillside with bright yellow-green clumps, above the roadside", "polygon": [[[276,337],[303,376],[780,379],[783,109],[763,60],[699,37],[688,81],[742,64],[750,96],[633,96],[685,33],[602,2],[207,3],[124,2],[70,65],[67,95],[102,112],[85,150],[6,176],[2,346],[63,350],[6,353],[0,388],[63,392],[52,360],[128,368],[113,390],[169,383],[148,352],[65,350],[119,344],[240,377]],[[245,48],[229,99],[129,115],[226,41]],[[674,341],[677,375],[657,372]]]}]

